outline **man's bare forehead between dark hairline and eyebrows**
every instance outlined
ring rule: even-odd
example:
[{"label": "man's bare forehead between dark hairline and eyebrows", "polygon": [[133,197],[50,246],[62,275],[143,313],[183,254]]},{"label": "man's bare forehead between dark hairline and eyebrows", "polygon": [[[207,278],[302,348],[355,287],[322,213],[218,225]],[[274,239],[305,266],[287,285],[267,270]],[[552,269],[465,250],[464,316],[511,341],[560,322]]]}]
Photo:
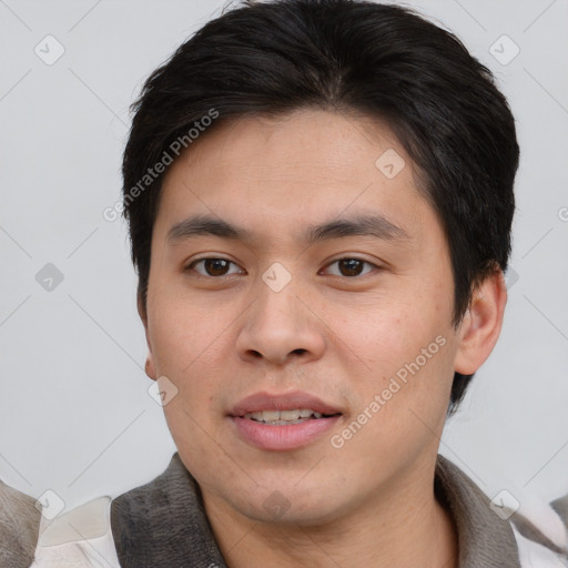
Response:
[{"label": "man's bare forehead between dark hairline and eyebrows", "polygon": [[416,180],[376,119],[307,109],[243,118],[205,131],[170,166],[156,225],[199,213],[287,232],[372,211],[412,233],[429,209]]}]

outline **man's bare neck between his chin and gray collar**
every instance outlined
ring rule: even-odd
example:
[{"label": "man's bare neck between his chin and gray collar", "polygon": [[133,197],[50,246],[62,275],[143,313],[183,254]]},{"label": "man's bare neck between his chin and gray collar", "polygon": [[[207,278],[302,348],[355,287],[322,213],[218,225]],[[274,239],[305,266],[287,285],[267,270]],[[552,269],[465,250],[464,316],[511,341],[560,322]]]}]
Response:
[{"label": "man's bare neck between his chin and gray collar", "polygon": [[433,476],[434,464],[422,483],[416,474],[400,476],[348,515],[320,525],[260,523],[220,497],[203,493],[203,500],[231,568],[258,558],[275,568],[457,568],[457,532],[434,496]]}]

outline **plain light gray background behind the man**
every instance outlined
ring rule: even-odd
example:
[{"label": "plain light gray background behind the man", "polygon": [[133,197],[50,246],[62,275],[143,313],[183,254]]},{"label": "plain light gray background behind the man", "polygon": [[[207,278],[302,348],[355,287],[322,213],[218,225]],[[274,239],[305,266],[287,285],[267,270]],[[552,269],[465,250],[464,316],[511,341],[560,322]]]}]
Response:
[{"label": "plain light gray background behind the man", "polygon": [[[68,509],[150,480],[175,450],[148,394],[125,226],[102,212],[120,199],[129,104],[223,6],[0,0],[0,478]],[[568,1],[407,6],[496,73],[521,145],[504,331],[440,452],[491,497],[548,500],[568,491]]]}]

